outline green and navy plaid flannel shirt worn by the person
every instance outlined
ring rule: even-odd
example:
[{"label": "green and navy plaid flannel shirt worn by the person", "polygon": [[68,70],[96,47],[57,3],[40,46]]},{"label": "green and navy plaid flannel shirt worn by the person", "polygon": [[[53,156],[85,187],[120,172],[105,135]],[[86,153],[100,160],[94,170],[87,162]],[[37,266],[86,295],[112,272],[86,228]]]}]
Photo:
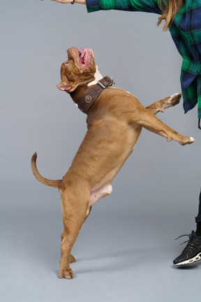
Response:
[{"label": "green and navy plaid flannel shirt worn by the person", "polygon": [[[86,0],[89,13],[96,10],[130,10],[161,15],[157,0]],[[186,0],[170,27],[173,41],[183,57],[181,91],[184,112],[198,103],[201,118],[201,0]]]}]

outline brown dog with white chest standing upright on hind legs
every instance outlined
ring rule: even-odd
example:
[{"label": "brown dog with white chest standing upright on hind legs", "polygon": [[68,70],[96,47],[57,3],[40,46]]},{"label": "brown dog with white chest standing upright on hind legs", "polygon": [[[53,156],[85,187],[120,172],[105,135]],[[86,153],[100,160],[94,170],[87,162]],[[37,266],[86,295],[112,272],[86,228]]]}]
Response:
[{"label": "brown dog with white chest standing upright on hind legs", "polygon": [[[59,89],[70,94],[79,106],[88,89],[100,80],[94,53],[84,49],[68,49],[68,61],[61,65]],[[32,171],[39,182],[59,188],[64,232],[61,234],[59,278],[73,278],[70,255],[82,224],[91,207],[99,199],[111,194],[111,182],[124,161],[133,151],[142,127],[181,145],[193,143],[193,138],[182,136],[155,117],[159,111],[179,103],[181,94],[174,94],[144,108],[140,101],[123,89],[103,89],[87,115],[87,134],[73,162],[62,180],[47,180],[38,173],[35,153]]]}]

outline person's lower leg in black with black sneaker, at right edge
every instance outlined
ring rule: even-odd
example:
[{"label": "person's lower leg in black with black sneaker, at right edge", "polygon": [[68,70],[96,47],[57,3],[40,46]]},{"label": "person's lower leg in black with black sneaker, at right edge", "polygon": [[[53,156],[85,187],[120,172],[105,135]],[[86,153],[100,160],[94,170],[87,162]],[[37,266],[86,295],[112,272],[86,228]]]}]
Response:
[{"label": "person's lower leg in black with black sneaker, at right edge", "polygon": [[179,257],[174,259],[174,266],[193,264],[195,261],[201,259],[201,191],[199,211],[198,216],[195,217],[195,222],[197,223],[197,229],[196,231],[192,231],[190,235],[187,235],[189,238],[188,243]]}]

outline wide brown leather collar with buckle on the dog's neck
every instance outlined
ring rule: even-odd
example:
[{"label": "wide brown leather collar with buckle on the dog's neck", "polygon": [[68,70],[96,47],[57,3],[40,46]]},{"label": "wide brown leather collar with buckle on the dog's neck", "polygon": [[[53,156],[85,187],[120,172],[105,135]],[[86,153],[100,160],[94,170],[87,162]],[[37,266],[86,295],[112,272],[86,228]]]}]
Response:
[{"label": "wide brown leather collar with buckle on the dog's neck", "polygon": [[84,96],[82,96],[82,99],[80,99],[78,108],[83,113],[87,114],[93,103],[103,91],[103,89],[111,87],[112,85],[114,85],[114,80],[109,75],[106,75],[104,78],[99,80],[96,85],[87,90]]}]

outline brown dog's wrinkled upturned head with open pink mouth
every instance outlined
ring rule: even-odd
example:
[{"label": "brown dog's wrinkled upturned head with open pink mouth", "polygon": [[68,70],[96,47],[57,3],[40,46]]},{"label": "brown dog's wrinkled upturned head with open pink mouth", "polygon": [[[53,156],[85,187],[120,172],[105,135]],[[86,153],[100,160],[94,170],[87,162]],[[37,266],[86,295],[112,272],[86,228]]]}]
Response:
[{"label": "brown dog's wrinkled upturned head with open pink mouth", "polygon": [[75,47],[69,48],[68,60],[61,65],[61,83],[57,87],[68,93],[94,80],[96,73],[94,52],[89,48],[81,50],[82,52]]}]

